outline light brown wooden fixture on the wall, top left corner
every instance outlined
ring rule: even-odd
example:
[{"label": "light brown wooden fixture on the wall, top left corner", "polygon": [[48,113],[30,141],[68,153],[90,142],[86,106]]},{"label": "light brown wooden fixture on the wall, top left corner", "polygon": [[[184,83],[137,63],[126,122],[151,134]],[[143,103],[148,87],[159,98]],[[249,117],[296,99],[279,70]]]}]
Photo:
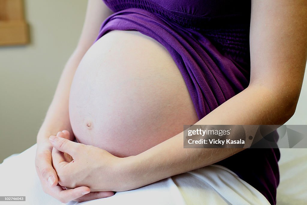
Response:
[{"label": "light brown wooden fixture on the wall, top left corner", "polygon": [[0,45],[29,43],[23,0],[0,0]]}]

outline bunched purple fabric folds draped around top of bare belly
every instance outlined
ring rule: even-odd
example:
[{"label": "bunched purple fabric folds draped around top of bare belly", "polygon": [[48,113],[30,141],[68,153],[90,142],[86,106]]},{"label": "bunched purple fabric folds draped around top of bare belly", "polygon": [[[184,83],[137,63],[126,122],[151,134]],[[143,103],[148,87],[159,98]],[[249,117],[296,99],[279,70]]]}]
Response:
[{"label": "bunched purple fabric folds draped around top of bare belly", "polygon": [[199,119],[248,85],[249,73],[222,55],[202,32],[137,8],[107,18],[97,40],[111,30],[137,30],[169,51],[185,80]]}]

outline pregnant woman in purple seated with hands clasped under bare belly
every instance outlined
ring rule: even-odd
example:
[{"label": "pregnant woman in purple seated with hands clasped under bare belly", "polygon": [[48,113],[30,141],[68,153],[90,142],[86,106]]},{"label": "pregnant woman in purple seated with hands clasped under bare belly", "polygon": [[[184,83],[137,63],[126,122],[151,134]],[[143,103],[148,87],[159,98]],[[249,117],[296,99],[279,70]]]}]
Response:
[{"label": "pregnant woman in purple seated with hands clasped under bare belly", "polygon": [[37,136],[44,191],[114,204],[177,176],[187,204],[196,190],[197,204],[275,204],[278,149],[184,149],[182,131],[285,123],[304,76],[306,14],[305,0],[89,0]]}]

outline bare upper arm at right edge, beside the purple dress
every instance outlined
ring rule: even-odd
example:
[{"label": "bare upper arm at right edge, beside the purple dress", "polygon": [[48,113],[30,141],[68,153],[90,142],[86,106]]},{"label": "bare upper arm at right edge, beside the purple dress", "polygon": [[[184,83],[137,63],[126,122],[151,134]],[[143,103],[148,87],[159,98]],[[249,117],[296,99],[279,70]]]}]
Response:
[{"label": "bare upper arm at right edge, beside the purple dress", "polygon": [[251,2],[251,84],[297,100],[307,57],[307,1]]}]

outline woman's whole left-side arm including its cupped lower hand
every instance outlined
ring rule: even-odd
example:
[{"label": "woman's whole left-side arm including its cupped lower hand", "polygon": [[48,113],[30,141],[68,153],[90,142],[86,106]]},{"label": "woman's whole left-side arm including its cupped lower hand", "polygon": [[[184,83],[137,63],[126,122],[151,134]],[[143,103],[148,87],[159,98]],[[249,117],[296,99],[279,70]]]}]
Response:
[{"label": "woman's whole left-side arm including its cupped lower hand", "polygon": [[[56,135],[57,132],[64,129],[72,133],[68,115],[68,99],[72,79],[82,57],[98,36],[103,20],[110,14],[111,11],[101,0],[88,1],[79,43],[65,65],[52,103],[37,134],[37,154],[35,159],[37,174],[41,180],[43,190],[59,200],[74,200],[82,195],[84,188],[63,191],[62,188],[56,186],[58,178],[56,171],[52,167],[52,145],[49,143],[48,138],[50,135]],[[73,138],[74,136],[71,135],[70,140],[73,140]]]}]

